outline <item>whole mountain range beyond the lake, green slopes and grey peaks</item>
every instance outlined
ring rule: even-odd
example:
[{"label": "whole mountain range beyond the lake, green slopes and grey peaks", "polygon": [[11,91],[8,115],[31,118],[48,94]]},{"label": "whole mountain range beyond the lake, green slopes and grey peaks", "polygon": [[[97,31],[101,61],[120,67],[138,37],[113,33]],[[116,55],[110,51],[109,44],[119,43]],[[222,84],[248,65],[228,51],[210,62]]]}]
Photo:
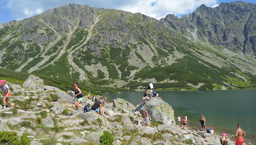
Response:
[{"label": "whole mountain range beyond the lake, green slopes and grey peaks", "polygon": [[69,4],[0,24],[0,67],[115,88],[149,81],[175,90],[255,88],[253,8],[201,5],[188,16],[157,20]]}]

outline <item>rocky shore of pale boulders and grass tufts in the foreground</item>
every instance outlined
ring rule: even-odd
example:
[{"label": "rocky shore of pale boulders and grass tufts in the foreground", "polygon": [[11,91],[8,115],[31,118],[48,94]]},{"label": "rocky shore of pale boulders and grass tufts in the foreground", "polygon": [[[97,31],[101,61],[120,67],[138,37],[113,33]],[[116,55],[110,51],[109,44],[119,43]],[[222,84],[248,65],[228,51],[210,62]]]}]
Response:
[{"label": "rocky shore of pale boulders and grass tufts in the foreground", "polygon": [[[95,111],[75,110],[71,104],[73,91],[66,93],[44,85],[39,77],[30,75],[23,85],[8,84],[16,105],[0,106],[0,131],[15,132],[20,137],[25,134],[29,144],[104,144],[108,139],[113,144],[134,145],[220,144],[219,136],[175,126],[174,110],[158,98],[137,107],[130,103],[130,108],[126,108],[126,100],[117,98],[117,108],[107,102],[102,107],[103,117]],[[82,104],[87,103],[94,102],[84,96]],[[150,127],[142,126],[141,107],[149,111]],[[234,142],[229,140],[229,144]]]}]

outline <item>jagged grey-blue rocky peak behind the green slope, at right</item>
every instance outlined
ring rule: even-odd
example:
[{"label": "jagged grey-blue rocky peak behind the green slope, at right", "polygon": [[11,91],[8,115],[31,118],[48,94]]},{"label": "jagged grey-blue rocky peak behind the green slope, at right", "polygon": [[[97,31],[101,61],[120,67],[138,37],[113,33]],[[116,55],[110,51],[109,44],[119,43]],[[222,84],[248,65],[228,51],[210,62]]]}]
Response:
[{"label": "jagged grey-blue rocky peak behind the green slope, at right", "polygon": [[[215,8],[201,5],[192,14],[162,21],[193,41],[209,42],[233,52],[256,58],[256,4],[221,3]],[[182,25],[181,25],[182,23]]]}]

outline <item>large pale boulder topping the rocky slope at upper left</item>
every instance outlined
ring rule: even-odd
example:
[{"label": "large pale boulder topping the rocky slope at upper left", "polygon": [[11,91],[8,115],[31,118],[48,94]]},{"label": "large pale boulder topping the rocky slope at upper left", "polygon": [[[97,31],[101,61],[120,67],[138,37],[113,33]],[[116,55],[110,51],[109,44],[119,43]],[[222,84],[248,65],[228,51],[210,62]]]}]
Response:
[{"label": "large pale boulder topping the rocky slope at upper left", "polygon": [[33,89],[44,89],[43,80],[37,76],[29,75],[27,80],[23,83],[23,87],[25,88],[33,88]]}]

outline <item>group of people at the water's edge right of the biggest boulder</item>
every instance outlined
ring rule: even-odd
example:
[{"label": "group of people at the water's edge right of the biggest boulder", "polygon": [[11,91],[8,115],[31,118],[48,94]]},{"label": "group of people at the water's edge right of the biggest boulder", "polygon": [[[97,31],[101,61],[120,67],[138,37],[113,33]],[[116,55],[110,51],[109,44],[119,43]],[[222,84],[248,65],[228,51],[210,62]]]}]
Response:
[{"label": "group of people at the water's edge right of the biggest boulder", "polygon": [[[181,117],[180,115],[178,115],[178,126],[181,126]],[[182,118],[182,123],[183,123],[183,130],[185,130],[185,128],[188,125],[188,115],[185,115]],[[199,120],[201,127],[199,129],[199,131],[205,131],[206,133],[209,134],[213,134],[215,135],[215,131],[213,127],[210,126],[206,126],[206,117],[204,117],[204,115],[201,116],[200,120]],[[241,129],[241,125],[238,123],[236,124],[236,133],[235,133],[235,145],[242,145],[244,143],[244,137],[246,136],[246,133]],[[220,137],[220,143],[222,145],[228,145],[228,139],[227,139],[227,134],[223,133],[222,137]]]}]

